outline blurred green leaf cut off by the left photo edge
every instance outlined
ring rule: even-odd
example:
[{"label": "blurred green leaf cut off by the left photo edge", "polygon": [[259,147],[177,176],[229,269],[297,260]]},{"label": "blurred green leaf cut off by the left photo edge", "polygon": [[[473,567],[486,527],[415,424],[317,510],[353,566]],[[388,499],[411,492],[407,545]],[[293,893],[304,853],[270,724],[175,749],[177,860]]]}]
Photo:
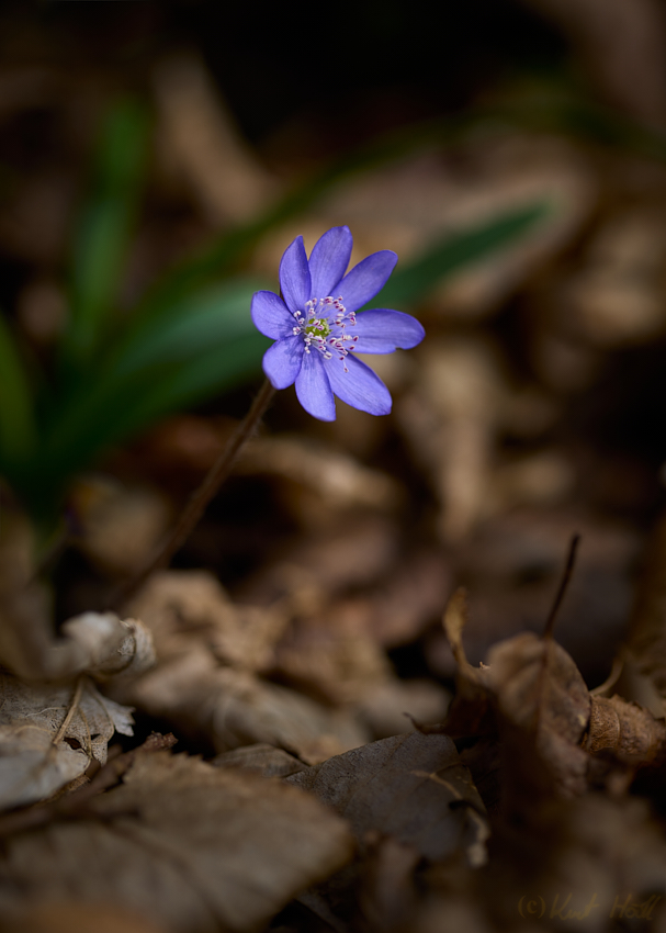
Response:
[{"label": "blurred green leaf cut off by the left photo edge", "polygon": [[13,334],[0,315],[0,457],[3,464],[24,460],[33,450],[36,430],[33,400]]}]

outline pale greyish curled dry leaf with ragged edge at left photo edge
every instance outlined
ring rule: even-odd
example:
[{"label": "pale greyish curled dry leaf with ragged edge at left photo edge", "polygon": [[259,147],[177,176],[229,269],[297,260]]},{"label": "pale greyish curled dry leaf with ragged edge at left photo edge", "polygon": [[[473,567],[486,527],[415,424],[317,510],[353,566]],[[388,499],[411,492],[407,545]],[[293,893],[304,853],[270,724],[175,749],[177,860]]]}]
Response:
[{"label": "pale greyish curled dry leaf with ragged edge at left photo edge", "polygon": [[31,582],[31,533],[16,517],[0,533],[0,807],[56,793],[104,763],[114,731],[132,734],[131,710],[91,677],[122,681],[149,667],[150,633],[113,612],[86,612],[54,637],[45,592]]}]

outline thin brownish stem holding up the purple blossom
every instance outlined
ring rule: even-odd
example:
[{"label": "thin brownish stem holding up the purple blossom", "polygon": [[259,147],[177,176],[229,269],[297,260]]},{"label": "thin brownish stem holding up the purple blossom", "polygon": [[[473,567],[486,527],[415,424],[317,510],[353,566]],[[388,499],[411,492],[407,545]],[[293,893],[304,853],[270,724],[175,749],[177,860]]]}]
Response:
[{"label": "thin brownish stem holding up the purple blossom", "polygon": [[113,593],[109,608],[120,608],[126,603],[143,586],[150,574],[166,566],[173,554],[184,544],[204,514],[206,506],[232,472],[241,447],[253,435],[274,394],[275,390],[267,379],[252,402],[250,411],[227,441],[225,449],[208,470],[202,484],[190,497],[169,537],[162,541],[144,566]]}]

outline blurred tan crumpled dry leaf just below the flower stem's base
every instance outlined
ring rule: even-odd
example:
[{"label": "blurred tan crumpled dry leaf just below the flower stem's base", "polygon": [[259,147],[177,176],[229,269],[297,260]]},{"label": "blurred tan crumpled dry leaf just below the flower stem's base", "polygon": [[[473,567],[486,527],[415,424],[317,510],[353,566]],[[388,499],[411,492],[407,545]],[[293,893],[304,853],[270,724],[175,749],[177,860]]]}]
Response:
[{"label": "blurred tan crumpled dry leaf just below the flower stem's base", "polygon": [[113,685],[116,699],[205,735],[219,752],[266,742],[312,764],[368,740],[349,711],[255,675],[273,655],[282,610],[235,606],[208,574],[173,571],[156,574],[132,609],[155,636],[158,663]]}]

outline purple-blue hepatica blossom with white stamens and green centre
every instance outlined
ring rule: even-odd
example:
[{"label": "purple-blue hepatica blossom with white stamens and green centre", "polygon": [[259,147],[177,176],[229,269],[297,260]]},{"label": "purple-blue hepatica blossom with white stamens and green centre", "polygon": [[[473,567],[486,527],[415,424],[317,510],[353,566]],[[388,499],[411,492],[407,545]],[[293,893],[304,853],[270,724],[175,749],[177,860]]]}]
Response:
[{"label": "purple-blue hepatica blossom with white stamens and green centre", "polygon": [[425,337],[418,321],[400,311],[358,313],[384,286],[397,256],[383,249],[347,272],[351,246],[349,227],[332,227],[308,259],[303,237],[296,237],[280,263],[282,297],[257,292],[252,299],[255,326],[275,340],[263,371],[275,389],[295,382],[305,411],[323,421],[335,420],[334,395],[371,415],[387,415],[388,390],[355,353],[393,353]]}]

